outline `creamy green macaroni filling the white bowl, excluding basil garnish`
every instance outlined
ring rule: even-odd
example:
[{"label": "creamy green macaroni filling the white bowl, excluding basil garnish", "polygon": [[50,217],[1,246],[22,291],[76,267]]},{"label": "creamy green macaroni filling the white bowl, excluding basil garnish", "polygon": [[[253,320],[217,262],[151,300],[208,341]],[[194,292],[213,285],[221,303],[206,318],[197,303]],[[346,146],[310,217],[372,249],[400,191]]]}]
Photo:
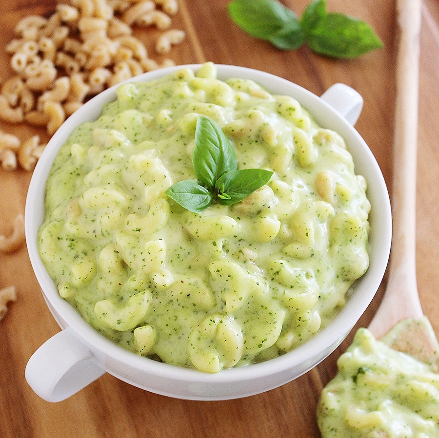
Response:
[{"label": "creamy green macaroni filling the white bowl, excluding basil garnish", "polygon": [[[239,169],[273,171],[232,206],[185,210],[197,119]],[[121,85],[81,124],[46,183],[39,251],[60,296],[123,347],[205,372],[264,361],[315,335],[367,269],[366,182],[339,134],[294,98],[206,63]]]}]

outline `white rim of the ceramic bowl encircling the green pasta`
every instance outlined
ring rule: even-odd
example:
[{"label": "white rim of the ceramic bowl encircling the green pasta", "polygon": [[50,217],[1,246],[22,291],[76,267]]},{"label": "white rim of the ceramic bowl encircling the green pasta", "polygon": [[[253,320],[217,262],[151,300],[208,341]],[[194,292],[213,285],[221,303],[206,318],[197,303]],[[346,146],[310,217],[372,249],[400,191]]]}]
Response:
[{"label": "white rim of the ceramic bowl encircling the green pasta", "polygon": [[[390,254],[392,230],[391,208],[384,177],[379,169],[375,156],[355,128],[329,104],[321,100],[319,96],[280,76],[247,67],[215,64],[218,70],[218,78],[221,80],[228,77],[250,78],[268,89],[272,94],[293,95],[300,104],[302,104],[302,100],[306,100],[306,102],[311,105],[307,104],[303,106],[317,119],[322,127],[325,127],[325,125],[328,125],[329,123],[331,129],[339,132],[340,129],[333,127],[333,122],[337,121],[336,125],[338,128],[341,127],[342,132],[349,133],[349,140],[346,140],[345,138],[349,152],[352,154],[351,148],[352,145],[355,144],[355,147],[360,149],[360,153],[366,161],[364,166],[370,168],[369,170],[374,175],[373,181],[368,180],[368,184],[371,184],[374,187],[374,190],[372,191],[374,195],[373,200],[369,198],[369,195],[368,198],[374,206],[373,208],[377,206],[379,207],[377,210],[371,210],[371,215],[374,215],[377,212],[379,213],[379,217],[375,218],[375,223],[379,221],[379,227],[378,225],[375,227],[376,229],[372,229],[371,227],[371,231],[379,231],[379,238],[377,237],[374,240],[379,250],[371,248],[370,253],[374,254],[374,257],[370,258],[371,263],[368,271],[353,285],[354,291],[347,300],[346,305],[310,340],[274,359],[248,366],[224,369],[216,374],[208,374],[196,369],[156,362],[137,355],[134,352],[125,350],[120,345],[105,338],[92,326],[87,324],[79,313],[77,313],[73,307],[60,297],[54,282],[49,277],[40,259],[37,246],[37,232],[42,223],[41,209],[43,209],[43,207],[41,206],[40,201],[44,192],[45,180],[50,171],[55,155],[65,143],[73,129],[82,121],[95,120],[101,113],[102,105],[116,98],[116,89],[123,83],[150,81],[183,68],[190,68],[196,71],[202,65],[203,64],[177,65],[133,77],[103,91],[99,95],[94,96],[79,110],[67,118],[60,129],[51,137],[37,162],[26,196],[24,214],[25,235],[31,265],[41,287],[43,297],[60,327],[65,328],[66,326],[69,326],[75,335],[80,338],[82,343],[88,345],[93,352],[98,352],[98,357],[99,354],[103,354],[117,362],[131,366],[142,372],[147,372],[150,375],[187,382],[220,383],[249,381],[287,371],[288,369],[303,364],[306,361],[309,361],[310,363],[312,362],[312,366],[308,368],[310,369],[325,359],[343,341],[375,296],[384,277]],[[310,109],[310,107],[312,108]],[[318,114],[316,114],[316,109],[318,109]],[[321,123],[322,118],[325,119],[325,123]],[[345,135],[342,136],[345,137]],[[357,161],[358,160],[354,157],[356,167],[358,164]],[[369,185],[369,187],[371,187],[371,185]],[[375,251],[376,254],[373,251]],[[360,288],[361,293],[357,293],[358,288]],[[329,346],[332,346],[332,350],[329,353],[325,352]],[[318,354],[316,356],[317,352],[325,353],[321,354],[321,357],[319,357]],[[107,369],[105,362],[106,361],[102,361],[101,365],[111,374],[111,369]],[[306,372],[306,370],[304,372]]]}]

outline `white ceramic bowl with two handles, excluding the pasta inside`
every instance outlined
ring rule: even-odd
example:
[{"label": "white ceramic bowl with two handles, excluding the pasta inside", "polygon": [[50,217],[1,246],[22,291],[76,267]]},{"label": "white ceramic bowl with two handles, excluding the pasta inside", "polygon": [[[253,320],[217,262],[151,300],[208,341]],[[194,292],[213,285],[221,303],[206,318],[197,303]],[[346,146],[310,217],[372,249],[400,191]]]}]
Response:
[{"label": "white ceramic bowl with two handles, excluding the pasta inside", "polygon": [[[149,81],[181,67],[153,71],[132,81]],[[200,65],[186,67],[198,69]],[[45,181],[60,146],[78,124],[98,118],[102,105],[116,98],[115,87],[110,88],[70,116],[53,135],[29,186],[25,209],[27,248],[44,299],[63,329],[34,353],[26,367],[26,379],[41,398],[63,400],[104,372],[145,390],[181,399],[224,400],[267,391],[296,379],[325,359],[347,336],[374,297],[390,252],[391,211],[377,161],[353,128],[362,108],[361,96],[351,88],[337,84],[318,97],[267,73],[237,66],[217,67],[218,77],[222,80],[228,77],[253,79],[271,93],[293,96],[322,127],[335,130],[344,137],[356,173],[362,174],[368,182],[367,196],[372,206],[369,269],[352,286],[352,296],[330,324],[295,350],[267,362],[206,374],[145,359],[104,338],[58,294],[40,260],[37,231],[43,221]]]}]

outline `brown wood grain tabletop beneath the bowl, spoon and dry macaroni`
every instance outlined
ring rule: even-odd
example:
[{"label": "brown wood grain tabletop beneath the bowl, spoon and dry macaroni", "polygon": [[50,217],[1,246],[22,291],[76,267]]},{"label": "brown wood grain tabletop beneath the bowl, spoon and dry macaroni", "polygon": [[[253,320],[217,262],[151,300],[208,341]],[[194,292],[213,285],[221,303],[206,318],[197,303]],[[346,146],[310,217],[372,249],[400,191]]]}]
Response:
[{"label": "brown wood grain tabletop beneath the bowl, spoon and dry macaroni", "polygon": [[[321,95],[335,82],[354,87],[364,98],[356,125],[392,181],[391,148],[395,86],[395,4],[388,0],[327,0],[328,9],[368,21],[384,48],[356,60],[319,57],[306,47],[281,52],[244,34],[227,15],[228,0],[179,0],[173,27],[184,29],[184,42],[172,49],[177,64],[211,60],[251,67],[285,77]],[[283,3],[298,15],[307,0]],[[0,8],[0,76],[9,77],[4,46],[18,20],[28,14],[49,15],[53,0],[8,0]],[[136,33],[149,41],[148,32]],[[150,44],[149,42],[146,42]],[[439,5],[424,0],[419,86],[417,180],[417,274],[422,307],[439,334]],[[157,57],[160,59],[160,57]],[[44,131],[0,123],[20,138]],[[397,170],[396,170],[397,171]],[[13,218],[24,211],[31,172],[0,169],[0,234],[11,232]],[[78,394],[48,403],[24,379],[32,353],[60,329],[47,309],[25,246],[0,253],[0,288],[15,286],[17,301],[0,321],[1,437],[319,437],[316,404],[320,391],[336,372],[339,355],[355,330],[316,368],[272,391],[238,400],[188,401],[155,395],[106,374]],[[357,327],[367,326],[379,306],[385,280]],[[395,303],[398,305],[398,303]]]}]

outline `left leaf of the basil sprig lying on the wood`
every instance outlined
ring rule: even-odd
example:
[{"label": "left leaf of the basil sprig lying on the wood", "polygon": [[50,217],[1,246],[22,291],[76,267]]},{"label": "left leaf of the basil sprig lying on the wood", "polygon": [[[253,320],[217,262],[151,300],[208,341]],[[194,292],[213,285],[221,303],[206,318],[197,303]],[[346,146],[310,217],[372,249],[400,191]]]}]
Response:
[{"label": "left leaf of the basil sprig lying on the wood", "polygon": [[297,49],[304,42],[296,14],[277,0],[234,0],[227,8],[241,29],[279,49]]}]

